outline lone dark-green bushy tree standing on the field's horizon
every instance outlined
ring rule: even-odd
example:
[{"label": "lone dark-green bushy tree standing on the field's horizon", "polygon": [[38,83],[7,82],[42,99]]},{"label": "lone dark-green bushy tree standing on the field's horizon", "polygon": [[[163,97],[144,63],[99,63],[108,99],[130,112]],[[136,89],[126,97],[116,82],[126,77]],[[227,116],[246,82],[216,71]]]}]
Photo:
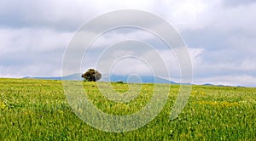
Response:
[{"label": "lone dark-green bushy tree standing on the field's horizon", "polygon": [[89,69],[82,77],[84,78],[84,82],[96,82],[102,78],[102,74],[94,69]]}]

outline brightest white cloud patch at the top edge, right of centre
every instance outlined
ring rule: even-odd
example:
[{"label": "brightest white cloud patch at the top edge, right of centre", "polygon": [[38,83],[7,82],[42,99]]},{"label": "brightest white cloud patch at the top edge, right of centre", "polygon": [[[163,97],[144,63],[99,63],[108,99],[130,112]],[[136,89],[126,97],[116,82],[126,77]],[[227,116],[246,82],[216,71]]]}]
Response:
[{"label": "brightest white cloud patch at the top edge, right of centre", "polygon": [[211,20],[212,11],[221,1],[182,0],[155,1],[153,11],[170,22],[178,31],[203,29]]}]

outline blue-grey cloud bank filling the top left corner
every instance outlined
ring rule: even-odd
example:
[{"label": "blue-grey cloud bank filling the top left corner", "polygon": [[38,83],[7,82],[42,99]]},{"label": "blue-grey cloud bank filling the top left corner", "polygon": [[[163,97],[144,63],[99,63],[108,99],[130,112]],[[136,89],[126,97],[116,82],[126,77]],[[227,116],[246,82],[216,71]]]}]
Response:
[{"label": "blue-grey cloud bank filling the top left corner", "polygon": [[92,18],[90,2],[79,1],[9,1],[0,2],[0,27],[51,28],[75,31],[85,20]]}]

